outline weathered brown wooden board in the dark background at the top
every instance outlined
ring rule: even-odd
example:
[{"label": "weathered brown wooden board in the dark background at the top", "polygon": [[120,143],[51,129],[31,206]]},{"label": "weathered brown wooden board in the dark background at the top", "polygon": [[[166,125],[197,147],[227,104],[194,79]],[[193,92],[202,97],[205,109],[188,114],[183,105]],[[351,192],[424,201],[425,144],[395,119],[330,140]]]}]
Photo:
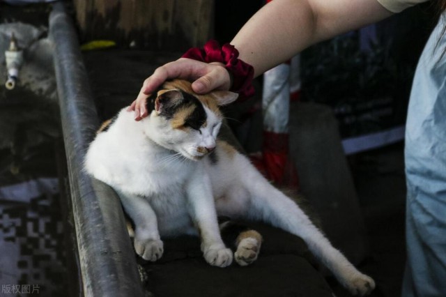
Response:
[{"label": "weathered brown wooden board in the dark background at the top", "polygon": [[74,0],[82,43],[187,50],[213,35],[213,0]]}]

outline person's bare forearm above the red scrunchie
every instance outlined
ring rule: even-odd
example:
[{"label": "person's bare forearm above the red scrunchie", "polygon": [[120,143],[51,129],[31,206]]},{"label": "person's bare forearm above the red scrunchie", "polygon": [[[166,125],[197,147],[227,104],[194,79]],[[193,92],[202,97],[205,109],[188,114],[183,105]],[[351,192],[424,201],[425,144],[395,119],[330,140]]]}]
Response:
[{"label": "person's bare forearm above the red scrunchie", "polygon": [[254,76],[309,45],[390,16],[376,0],[274,0],[231,41]]}]

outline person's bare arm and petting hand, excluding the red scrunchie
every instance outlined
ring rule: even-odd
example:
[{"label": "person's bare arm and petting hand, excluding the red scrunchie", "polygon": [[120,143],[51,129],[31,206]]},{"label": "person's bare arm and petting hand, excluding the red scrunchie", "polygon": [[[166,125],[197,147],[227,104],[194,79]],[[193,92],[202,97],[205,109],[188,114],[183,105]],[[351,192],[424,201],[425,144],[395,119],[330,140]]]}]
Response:
[{"label": "person's bare arm and petting hand, excluding the red scrunchie", "polygon": [[[286,61],[309,45],[390,16],[377,0],[274,0],[263,6],[237,33],[231,44],[239,59],[254,67],[254,77]],[[193,81],[197,93],[229,89],[230,77],[220,63],[179,59],[157,68],[130,109],[135,119],[147,115],[144,102],[164,80]]]}]

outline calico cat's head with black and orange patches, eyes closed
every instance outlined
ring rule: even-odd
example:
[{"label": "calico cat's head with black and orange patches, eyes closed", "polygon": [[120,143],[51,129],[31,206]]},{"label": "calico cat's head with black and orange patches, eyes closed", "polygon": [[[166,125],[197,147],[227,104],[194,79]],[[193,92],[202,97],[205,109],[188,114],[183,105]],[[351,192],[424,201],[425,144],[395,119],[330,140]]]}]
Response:
[{"label": "calico cat's head with black and orange patches, eyes closed", "polygon": [[200,160],[215,148],[215,139],[222,125],[219,106],[236,100],[229,91],[213,91],[198,95],[190,82],[175,79],[149,96],[146,130],[160,146],[176,151],[185,158]]}]

